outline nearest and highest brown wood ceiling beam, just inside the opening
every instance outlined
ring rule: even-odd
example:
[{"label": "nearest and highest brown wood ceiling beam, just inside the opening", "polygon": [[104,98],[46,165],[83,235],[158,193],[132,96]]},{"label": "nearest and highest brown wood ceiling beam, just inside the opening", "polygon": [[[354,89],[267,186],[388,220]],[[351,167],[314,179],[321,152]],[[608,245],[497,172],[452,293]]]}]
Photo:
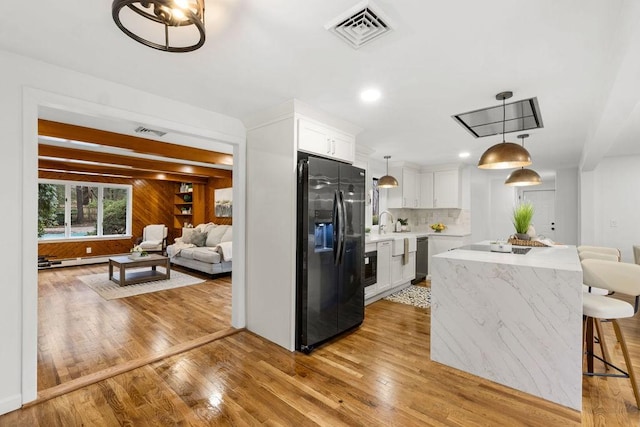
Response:
[{"label": "nearest and highest brown wood ceiling beam, just inside the opening", "polygon": [[53,122],[50,120],[38,120],[38,134],[72,141],[124,148],[140,154],[152,154],[172,159],[191,160],[216,165],[233,165],[233,156],[230,154],[91,129],[67,123]]}]

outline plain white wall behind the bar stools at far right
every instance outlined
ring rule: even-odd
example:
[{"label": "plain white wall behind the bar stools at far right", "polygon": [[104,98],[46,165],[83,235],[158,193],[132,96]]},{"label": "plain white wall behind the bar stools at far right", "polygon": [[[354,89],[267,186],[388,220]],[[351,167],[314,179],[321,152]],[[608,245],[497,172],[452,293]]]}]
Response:
[{"label": "plain white wall behind the bar stools at far right", "polygon": [[622,260],[634,262],[640,244],[640,156],[606,157],[595,171],[581,174],[584,245],[620,249]]}]

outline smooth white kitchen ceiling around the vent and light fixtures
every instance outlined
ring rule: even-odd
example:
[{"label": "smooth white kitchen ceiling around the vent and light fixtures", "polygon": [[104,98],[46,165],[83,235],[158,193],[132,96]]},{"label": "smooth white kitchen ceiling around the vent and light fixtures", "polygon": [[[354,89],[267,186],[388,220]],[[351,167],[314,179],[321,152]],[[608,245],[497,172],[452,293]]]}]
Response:
[{"label": "smooth white kitchen ceiling around the vent and light fixtures", "polygon": [[[238,118],[297,98],[362,127],[376,159],[466,150],[475,163],[501,138],[451,116],[505,90],[538,98],[544,128],[526,145],[540,172],[640,154],[639,2],[376,0],[395,28],[354,50],[324,25],[356,3],[206,0],[205,45],[171,54],[122,33],[110,1],[7,2],[0,49]],[[358,98],[368,86],[383,93],[375,105]]]}]

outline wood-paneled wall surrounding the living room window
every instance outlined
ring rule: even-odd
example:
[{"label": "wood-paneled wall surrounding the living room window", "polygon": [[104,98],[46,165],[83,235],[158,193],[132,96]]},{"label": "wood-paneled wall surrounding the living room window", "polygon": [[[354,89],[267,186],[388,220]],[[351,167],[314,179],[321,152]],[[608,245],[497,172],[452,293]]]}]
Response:
[{"label": "wood-paneled wall surrounding the living room window", "polygon": [[[70,180],[68,174],[39,172],[40,178]],[[174,183],[156,180],[127,180],[108,177],[73,177],[74,181],[87,181],[112,184],[131,184],[133,186],[133,222],[131,239],[87,240],[82,242],[39,243],[38,255],[47,255],[52,259],[68,259],[88,256],[105,256],[129,252],[136,238],[142,236],[142,229],[148,224],[173,223],[173,187]],[[168,243],[175,237],[169,229]],[[87,254],[86,248],[91,248]]]}]

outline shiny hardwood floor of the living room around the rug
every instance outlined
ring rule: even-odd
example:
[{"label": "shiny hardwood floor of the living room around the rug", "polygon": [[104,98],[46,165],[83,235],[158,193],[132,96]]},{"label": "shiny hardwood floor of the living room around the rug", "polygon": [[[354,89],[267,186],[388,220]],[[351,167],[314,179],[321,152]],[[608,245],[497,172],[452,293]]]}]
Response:
[{"label": "shiny hardwood floor of the living room around the rug", "polygon": [[[231,276],[106,301],[77,277],[106,264],[38,274],[38,390],[229,328]],[[178,268],[179,269],[179,268]]]}]

